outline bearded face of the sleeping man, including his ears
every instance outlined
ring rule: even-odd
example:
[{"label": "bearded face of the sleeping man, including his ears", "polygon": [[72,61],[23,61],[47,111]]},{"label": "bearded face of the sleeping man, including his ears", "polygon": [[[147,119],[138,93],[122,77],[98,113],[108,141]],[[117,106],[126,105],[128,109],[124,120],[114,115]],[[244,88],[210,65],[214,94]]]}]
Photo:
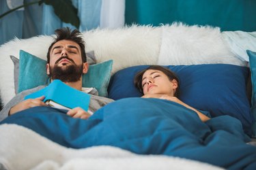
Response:
[{"label": "bearded face of the sleeping man, including his ears", "polygon": [[57,41],[51,48],[50,62],[46,65],[47,74],[52,80],[77,82],[83,73],[87,73],[88,65],[83,63],[81,48],[74,41]]}]

